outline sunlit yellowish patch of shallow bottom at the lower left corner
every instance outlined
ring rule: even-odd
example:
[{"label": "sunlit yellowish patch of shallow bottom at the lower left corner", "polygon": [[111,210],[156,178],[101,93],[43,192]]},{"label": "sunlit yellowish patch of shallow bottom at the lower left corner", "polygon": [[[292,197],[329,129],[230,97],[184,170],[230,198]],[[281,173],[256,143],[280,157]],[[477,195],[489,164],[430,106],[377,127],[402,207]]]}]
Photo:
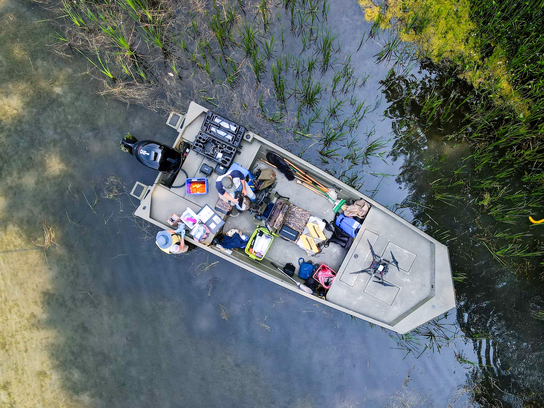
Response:
[{"label": "sunlit yellowish patch of shallow bottom at the lower left corner", "polygon": [[14,226],[0,232],[0,248],[0,406],[89,406],[84,395],[65,392],[51,361],[58,338],[44,324],[42,294],[54,272],[44,251]]}]

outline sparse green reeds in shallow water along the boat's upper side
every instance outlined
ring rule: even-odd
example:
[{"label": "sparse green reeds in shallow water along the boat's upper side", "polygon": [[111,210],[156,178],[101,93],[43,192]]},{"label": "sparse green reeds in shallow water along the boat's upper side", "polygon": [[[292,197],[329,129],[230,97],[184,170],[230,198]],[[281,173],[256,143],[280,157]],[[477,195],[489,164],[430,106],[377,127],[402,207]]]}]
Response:
[{"label": "sparse green reeds in shallow water along the boat's upper side", "polygon": [[299,154],[319,146],[314,159],[355,187],[361,163],[386,152],[384,140],[357,137],[378,105],[350,95],[368,75],[327,26],[327,0],[45,5],[64,21],[55,51],[84,54],[103,95],[154,110],[200,101]]}]

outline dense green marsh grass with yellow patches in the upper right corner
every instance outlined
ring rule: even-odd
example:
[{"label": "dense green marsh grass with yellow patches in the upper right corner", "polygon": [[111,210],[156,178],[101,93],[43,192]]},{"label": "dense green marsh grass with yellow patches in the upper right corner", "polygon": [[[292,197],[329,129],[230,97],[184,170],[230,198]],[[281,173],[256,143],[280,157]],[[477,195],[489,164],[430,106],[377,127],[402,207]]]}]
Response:
[{"label": "dense green marsh grass with yellow patches in the upper right corner", "polygon": [[[442,15],[442,11],[439,10],[441,6],[433,9],[435,5],[425,1],[415,2],[412,9],[404,10],[405,13],[394,9],[394,5],[391,7],[385,5],[378,10],[368,37],[378,38],[381,29],[388,26],[387,21],[393,16],[398,18],[398,24],[390,31],[388,38],[383,39],[386,45],[375,57],[379,61],[394,61],[397,64],[393,66],[394,69],[399,70],[398,64],[428,54],[423,50],[430,44],[423,40],[426,38],[424,32],[432,29],[434,19]],[[541,137],[544,94],[542,81],[537,79],[543,72],[537,60],[540,58],[539,50],[544,49],[544,38],[539,29],[544,27],[544,17],[531,11],[537,8],[540,8],[537,2],[529,2],[520,9],[513,3],[486,0],[474,5],[470,15],[446,16],[472,18],[476,23],[472,29],[475,37],[472,35],[468,42],[462,43],[466,34],[462,27],[467,27],[468,20],[458,23],[458,31],[455,24],[444,23],[444,38],[453,33],[459,36],[459,44],[465,44],[467,48],[456,48],[458,43],[452,41],[430,50],[432,55],[429,56],[435,62],[452,67],[449,76],[433,86],[429,86],[430,82],[426,80],[420,84],[409,80],[403,90],[406,97],[402,108],[417,117],[411,119],[412,122],[417,122],[422,129],[431,125],[438,125],[444,131],[448,128],[444,132],[447,137],[448,132],[455,133],[454,137],[464,138],[472,144],[474,151],[466,159],[473,160],[475,172],[494,174],[493,189],[496,190],[487,191],[490,186],[482,183],[469,183],[469,188],[485,190],[485,194],[480,194],[485,196],[487,214],[511,225],[521,222],[535,208],[541,208],[544,202],[544,190],[541,188],[544,171],[544,142]],[[401,14],[398,14],[399,11]],[[476,44],[473,37],[480,38],[481,44]],[[413,41],[415,48],[401,41],[407,38]],[[484,49],[485,53],[480,52]],[[448,61],[441,60],[444,55],[449,55]],[[480,61],[475,62],[477,60]],[[465,95],[456,92],[452,83],[458,84],[459,89],[459,76],[467,79],[477,90],[465,91]],[[392,71],[391,79],[399,77],[409,78],[409,75],[401,72],[397,76]],[[416,89],[411,88],[414,85]],[[464,88],[467,89],[466,86]],[[452,126],[452,121],[456,122],[455,126]],[[404,129],[397,132],[399,136],[408,126],[399,126],[399,129]],[[505,173],[504,169],[508,171]],[[521,193],[506,192],[510,190],[509,177],[522,178],[526,182]],[[449,191],[438,191],[436,197],[446,202],[458,199],[456,194],[452,195]],[[505,252],[518,251],[499,253]]]}]

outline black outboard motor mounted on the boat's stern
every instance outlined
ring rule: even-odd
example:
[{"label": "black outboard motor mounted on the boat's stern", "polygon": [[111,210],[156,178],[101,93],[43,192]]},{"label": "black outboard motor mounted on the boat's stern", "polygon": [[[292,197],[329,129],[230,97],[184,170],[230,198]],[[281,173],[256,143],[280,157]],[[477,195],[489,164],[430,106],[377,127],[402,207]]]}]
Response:
[{"label": "black outboard motor mounted on the boat's stern", "polygon": [[188,149],[186,146],[183,146],[184,152],[181,153],[157,141],[138,141],[138,139],[128,133],[121,140],[121,150],[131,153],[144,166],[163,173],[176,173],[180,171],[189,149],[190,146]]}]

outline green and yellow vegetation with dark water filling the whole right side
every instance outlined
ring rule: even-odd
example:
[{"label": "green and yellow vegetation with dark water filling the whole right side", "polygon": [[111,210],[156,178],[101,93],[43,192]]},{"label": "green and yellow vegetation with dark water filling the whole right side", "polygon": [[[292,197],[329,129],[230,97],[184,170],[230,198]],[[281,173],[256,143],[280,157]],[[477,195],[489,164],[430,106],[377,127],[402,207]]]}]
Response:
[{"label": "green and yellow vegetation with dark water filling the whole right side", "polygon": [[393,159],[403,159],[397,181],[410,191],[395,209],[410,208],[449,246],[458,322],[478,356],[458,356],[474,366],[472,400],[540,406],[541,334],[527,333],[542,332],[544,301],[542,233],[528,220],[544,211],[542,5],[360,4],[373,21],[367,38],[383,44],[375,58],[391,66],[385,115]]}]

